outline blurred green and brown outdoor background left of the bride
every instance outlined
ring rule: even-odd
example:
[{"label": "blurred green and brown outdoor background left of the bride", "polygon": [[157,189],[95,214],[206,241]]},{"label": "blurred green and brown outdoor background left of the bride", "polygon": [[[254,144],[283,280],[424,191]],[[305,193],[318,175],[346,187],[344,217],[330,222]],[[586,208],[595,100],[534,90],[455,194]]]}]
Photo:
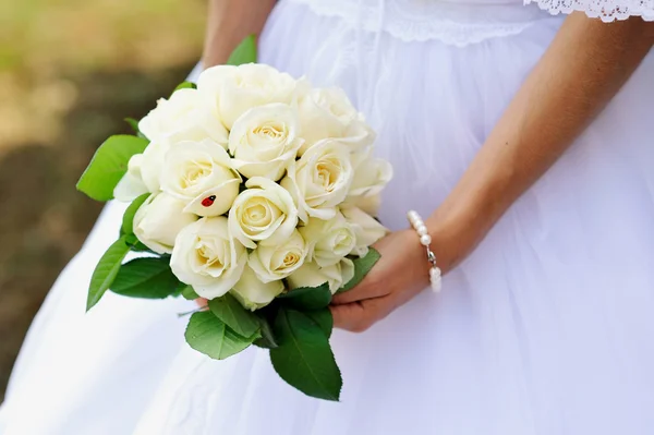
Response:
[{"label": "blurred green and brown outdoor background left of the bride", "polygon": [[75,191],[198,59],[203,0],[0,2],[0,402],[27,327],[101,204]]}]

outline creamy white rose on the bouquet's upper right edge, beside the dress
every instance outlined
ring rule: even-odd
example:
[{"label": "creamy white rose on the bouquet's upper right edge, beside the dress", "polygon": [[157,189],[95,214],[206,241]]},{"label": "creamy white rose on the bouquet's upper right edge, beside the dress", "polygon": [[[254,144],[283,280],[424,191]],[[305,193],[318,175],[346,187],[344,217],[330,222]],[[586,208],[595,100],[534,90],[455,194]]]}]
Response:
[{"label": "creamy white rose on the bouquet's upper right edge, beside the dress", "polygon": [[351,149],[361,149],[374,141],[374,132],[364,122],[339,87],[313,88],[298,105],[301,135],[306,141],[300,155],[324,138],[339,138]]}]

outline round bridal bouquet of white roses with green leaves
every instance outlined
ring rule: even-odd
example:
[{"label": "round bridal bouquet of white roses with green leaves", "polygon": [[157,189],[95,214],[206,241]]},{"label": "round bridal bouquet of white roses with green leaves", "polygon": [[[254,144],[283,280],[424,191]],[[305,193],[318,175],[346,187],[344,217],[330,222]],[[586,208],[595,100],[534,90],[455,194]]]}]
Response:
[{"label": "round bridal bouquet of white roses with green leaves", "polygon": [[[331,295],[378,259],[370,246],[390,165],[339,88],[315,88],[256,58],[253,38],[228,65],[180,85],[107,140],[77,188],[131,202],[119,240],[98,263],[87,307],[107,290],[208,300],[189,345],[214,359],[267,348],[301,391],[338,400],[329,347]],[[143,255],[124,263],[130,251]]]}]

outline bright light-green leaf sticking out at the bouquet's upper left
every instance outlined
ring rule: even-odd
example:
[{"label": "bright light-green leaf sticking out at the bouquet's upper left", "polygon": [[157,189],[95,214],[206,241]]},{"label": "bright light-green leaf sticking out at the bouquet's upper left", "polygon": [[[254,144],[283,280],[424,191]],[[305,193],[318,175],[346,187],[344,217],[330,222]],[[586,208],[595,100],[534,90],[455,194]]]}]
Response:
[{"label": "bright light-green leaf sticking out at the bouquet's upper left", "polygon": [[77,190],[96,201],[113,198],[113,189],[128,171],[130,158],[143,153],[147,144],[146,140],[136,136],[109,137],[77,181]]}]

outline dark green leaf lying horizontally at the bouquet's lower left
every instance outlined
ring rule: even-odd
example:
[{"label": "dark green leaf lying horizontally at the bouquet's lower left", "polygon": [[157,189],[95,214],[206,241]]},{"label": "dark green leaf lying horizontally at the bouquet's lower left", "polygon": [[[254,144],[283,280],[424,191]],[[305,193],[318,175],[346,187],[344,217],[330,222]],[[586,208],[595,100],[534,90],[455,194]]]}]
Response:
[{"label": "dark green leaf lying horizontally at the bouquet's lower left", "polygon": [[170,257],[135,258],[123,264],[111,291],[130,298],[165,299],[180,289],[180,280],[170,270]]}]

